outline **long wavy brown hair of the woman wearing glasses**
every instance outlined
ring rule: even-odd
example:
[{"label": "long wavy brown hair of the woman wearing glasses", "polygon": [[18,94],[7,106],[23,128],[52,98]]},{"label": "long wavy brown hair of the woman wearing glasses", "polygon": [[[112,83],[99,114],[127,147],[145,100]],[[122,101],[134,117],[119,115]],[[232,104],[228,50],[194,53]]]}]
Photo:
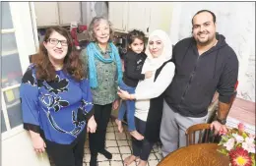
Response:
[{"label": "long wavy brown hair of the woman wearing glasses", "polygon": [[[61,27],[48,28],[43,41],[48,42],[48,39],[53,31],[63,35],[68,42],[68,52],[64,58],[63,71],[69,74],[76,81],[80,81],[81,79],[85,78],[86,68],[84,67],[80,53],[73,45],[72,37],[67,29]],[[40,43],[39,51],[37,55],[34,56],[33,63],[35,64],[37,80],[45,80],[47,82],[55,80],[56,72],[49,60],[47,49],[44,47],[43,43]]]}]

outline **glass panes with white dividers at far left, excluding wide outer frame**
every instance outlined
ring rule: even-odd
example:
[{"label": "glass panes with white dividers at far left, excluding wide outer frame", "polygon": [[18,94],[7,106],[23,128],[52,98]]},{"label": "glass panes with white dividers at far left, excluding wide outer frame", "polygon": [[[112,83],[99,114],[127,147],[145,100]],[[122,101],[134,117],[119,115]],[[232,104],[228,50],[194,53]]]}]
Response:
[{"label": "glass panes with white dividers at far left, excluding wide outer frame", "polygon": [[23,76],[16,43],[9,2],[2,2],[2,110],[1,131],[9,131],[22,124],[19,87]]}]

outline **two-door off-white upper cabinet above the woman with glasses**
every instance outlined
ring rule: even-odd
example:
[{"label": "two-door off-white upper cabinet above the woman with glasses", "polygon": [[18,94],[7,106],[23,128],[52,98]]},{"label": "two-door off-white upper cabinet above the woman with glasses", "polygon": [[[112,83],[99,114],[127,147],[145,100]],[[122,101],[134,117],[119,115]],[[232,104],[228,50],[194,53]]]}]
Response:
[{"label": "two-door off-white upper cabinet above the woman with glasses", "polygon": [[33,2],[37,27],[81,22],[81,2]]}]

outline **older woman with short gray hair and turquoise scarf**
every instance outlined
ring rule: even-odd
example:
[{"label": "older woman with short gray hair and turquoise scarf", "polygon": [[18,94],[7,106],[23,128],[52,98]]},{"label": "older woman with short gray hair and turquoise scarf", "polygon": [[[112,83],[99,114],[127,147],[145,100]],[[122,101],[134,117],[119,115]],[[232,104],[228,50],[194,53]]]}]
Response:
[{"label": "older woman with short gray hair and turquoise scarf", "polygon": [[82,51],[89,73],[97,129],[89,134],[91,161],[96,166],[97,153],[111,159],[112,154],[104,149],[107,123],[112,109],[117,109],[117,86],[122,80],[122,63],[116,46],[112,43],[111,23],[102,17],[93,19],[89,26],[90,44]]}]

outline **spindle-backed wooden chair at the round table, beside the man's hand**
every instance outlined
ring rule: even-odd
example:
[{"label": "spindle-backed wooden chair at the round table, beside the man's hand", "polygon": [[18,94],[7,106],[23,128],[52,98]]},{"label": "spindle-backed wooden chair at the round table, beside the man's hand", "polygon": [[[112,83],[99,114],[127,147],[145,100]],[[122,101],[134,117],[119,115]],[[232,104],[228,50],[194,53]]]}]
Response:
[{"label": "spindle-backed wooden chair at the round table, beside the man's hand", "polygon": [[[198,135],[198,142],[196,142],[196,135]],[[215,142],[215,139],[218,137],[219,136],[214,135],[214,131],[211,131],[210,124],[193,125],[186,131],[187,145],[195,143]]]}]

